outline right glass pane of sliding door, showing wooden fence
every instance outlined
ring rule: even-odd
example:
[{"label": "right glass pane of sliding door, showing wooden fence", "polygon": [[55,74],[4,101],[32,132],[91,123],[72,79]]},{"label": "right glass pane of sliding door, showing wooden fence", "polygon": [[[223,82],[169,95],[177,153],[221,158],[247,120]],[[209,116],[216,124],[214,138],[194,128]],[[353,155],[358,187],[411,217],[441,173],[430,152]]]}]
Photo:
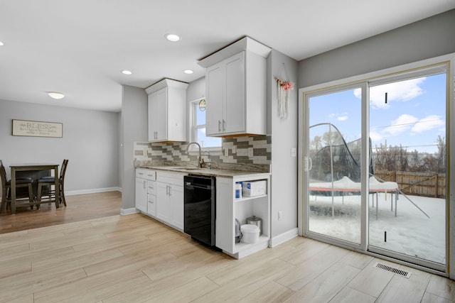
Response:
[{"label": "right glass pane of sliding door, showing wooden fence", "polygon": [[369,250],[444,270],[446,74],[370,87]]}]

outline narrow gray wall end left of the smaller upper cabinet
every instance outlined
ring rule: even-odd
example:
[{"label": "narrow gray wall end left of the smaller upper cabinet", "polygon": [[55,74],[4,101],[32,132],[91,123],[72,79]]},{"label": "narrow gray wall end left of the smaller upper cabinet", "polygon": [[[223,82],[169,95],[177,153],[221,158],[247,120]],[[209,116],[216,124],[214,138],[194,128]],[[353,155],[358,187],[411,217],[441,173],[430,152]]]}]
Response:
[{"label": "narrow gray wall end left of the smaller upper cabinet", "polygon": [[[122,180],[122,214],[134,208],[134,142],[146,142],[147,94],[145,89],[122,86],[119,163]],[[128,211],[127,211],[128,210]]]}]

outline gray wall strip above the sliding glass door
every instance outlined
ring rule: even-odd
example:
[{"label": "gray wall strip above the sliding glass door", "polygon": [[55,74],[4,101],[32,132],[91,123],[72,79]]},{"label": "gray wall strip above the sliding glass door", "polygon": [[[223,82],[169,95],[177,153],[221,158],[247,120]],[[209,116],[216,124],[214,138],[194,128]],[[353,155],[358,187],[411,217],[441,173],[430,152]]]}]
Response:
[{"label": "gray wall strip above the sliding glass door", "polygon": [[455,10],[299,62],[299,88],[455,52]]}]

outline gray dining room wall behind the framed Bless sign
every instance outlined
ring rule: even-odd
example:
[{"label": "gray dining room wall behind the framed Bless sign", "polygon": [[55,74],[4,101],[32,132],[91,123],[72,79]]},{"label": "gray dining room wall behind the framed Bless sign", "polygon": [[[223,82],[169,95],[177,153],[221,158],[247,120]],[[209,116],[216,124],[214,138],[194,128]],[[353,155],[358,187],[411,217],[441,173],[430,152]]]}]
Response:
[{"label": "gray dining room wall behind the framed Bless sign", "polygon": [[[0,100],[0,159],[63,162],[68,158],[65,192],[77,194],[117,189],[118,113]],[[63,123],[63,138],[11,136],[11,120]]]}]

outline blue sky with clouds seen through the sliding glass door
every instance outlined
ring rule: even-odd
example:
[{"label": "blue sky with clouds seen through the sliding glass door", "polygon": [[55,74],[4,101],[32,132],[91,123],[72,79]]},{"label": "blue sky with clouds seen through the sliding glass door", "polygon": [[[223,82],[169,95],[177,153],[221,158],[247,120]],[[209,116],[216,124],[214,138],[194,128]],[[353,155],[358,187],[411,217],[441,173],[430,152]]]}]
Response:
[{"label": "blue sky with clouds seen through the sliding glass door", "polygon": [[[387,92],[387,104],[385,103]],[[370,87],[370,138],[373,149],[385,144],[408,151],[437,152],[446,137],[446,75],[432,75]],[[360,138],[360,89],[310,100],[310,125],[330,122],[345,140]]]}]

